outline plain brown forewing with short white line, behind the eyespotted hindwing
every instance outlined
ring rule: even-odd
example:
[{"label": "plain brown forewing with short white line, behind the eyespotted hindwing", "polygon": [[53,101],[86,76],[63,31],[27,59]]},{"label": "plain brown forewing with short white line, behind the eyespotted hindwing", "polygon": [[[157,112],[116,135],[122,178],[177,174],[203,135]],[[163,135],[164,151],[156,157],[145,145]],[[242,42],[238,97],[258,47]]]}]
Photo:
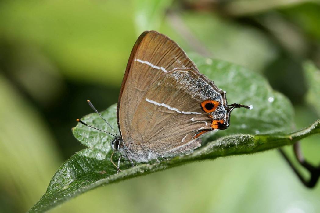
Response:
[{"label": "plain brown forewing with short white line, behind the eyespotted hindwing", "polygon": [[150,85],[171,70],[191,67],[196,69],[185,52],[167,36],[156,31],[140,35],[128,61],[117,105],[118,127],[124,141],[135,132],[132,118]]}]

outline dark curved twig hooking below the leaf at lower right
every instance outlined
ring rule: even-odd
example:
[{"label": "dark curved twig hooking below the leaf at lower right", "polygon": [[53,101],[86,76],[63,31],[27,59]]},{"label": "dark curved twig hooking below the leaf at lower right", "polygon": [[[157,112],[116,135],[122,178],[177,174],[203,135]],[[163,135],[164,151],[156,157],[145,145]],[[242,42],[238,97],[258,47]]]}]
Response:
[{"label": "dark curved twig hooking below the leaf at lower right", "polygon": [[279,149],[281,155],[284,157],[286,162],[290,165],[290,167],[292,168],[294,173],[298,176],[300,181],[308,188],[313,188],[314,186],[316,186],[316,183],[320,177],[320,165],[318,167],[316,167],[316,166],[311,165],[310,163],[308,163],[305,160],[305,158],[301,152],[300,141],[298,141],[297,143],[295,143],[293,145],[293,150],[294,150],[294,154],[295,154],[298,162],[300,163],[300,165],[302,165],[305,169],[307,169],[310,172],[310,179],[309,180],[306,180],[303,178],[303,176],[300,174],[300,172],[297,170],[297,168],[294,167],[294,165],[292,164],[289,157],[284,153],[284,151],[282,149]]}]

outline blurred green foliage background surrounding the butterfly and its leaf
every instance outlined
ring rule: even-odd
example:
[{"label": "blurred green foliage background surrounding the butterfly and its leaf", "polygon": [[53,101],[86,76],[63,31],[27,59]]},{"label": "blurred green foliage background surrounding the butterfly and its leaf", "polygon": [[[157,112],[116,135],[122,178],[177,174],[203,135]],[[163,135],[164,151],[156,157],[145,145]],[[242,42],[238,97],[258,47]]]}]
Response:
[{"label": "blurred green foliage background surrounding the butterfly and its leaf", "polygon": [[[75,119],[92,112],[87,99],[99,110],[117,102],[142,31],[260,72],[290,98],[300,129],[320,117],[303,71],[306,60],[320,67],[319,23],[320,2],[307,0],[0,1],[0,212],[30,209],[84,148]],[[302,141],[314,164],[319,139]],[[100,187],[51,212],[320,212],[319,198],[272,150]]]}]

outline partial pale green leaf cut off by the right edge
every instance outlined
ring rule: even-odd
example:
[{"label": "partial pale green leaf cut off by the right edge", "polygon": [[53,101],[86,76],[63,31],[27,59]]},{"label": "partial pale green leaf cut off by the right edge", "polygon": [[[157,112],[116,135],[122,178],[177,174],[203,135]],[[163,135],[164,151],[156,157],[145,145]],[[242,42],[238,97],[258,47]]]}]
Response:
[{"label": "partial pale green leaf cut off by the right edge", "polygon": [[320,116],[320,70],[311,61],[304,63],[303,68],[309,86],[306,101]]}]

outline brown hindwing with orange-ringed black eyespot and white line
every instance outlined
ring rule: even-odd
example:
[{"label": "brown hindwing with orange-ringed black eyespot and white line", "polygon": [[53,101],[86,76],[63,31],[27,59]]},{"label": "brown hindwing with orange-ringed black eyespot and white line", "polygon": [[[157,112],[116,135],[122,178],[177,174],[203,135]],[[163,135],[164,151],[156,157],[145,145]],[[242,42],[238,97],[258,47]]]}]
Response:
[{"label": "brown hindwing with orange-ringed black eyespot and white line", "polygon": [[160,76],[133,115],[132,141],[170,156],[200,146],[198,136],[225,125],[225,93],[195,69]]}]

